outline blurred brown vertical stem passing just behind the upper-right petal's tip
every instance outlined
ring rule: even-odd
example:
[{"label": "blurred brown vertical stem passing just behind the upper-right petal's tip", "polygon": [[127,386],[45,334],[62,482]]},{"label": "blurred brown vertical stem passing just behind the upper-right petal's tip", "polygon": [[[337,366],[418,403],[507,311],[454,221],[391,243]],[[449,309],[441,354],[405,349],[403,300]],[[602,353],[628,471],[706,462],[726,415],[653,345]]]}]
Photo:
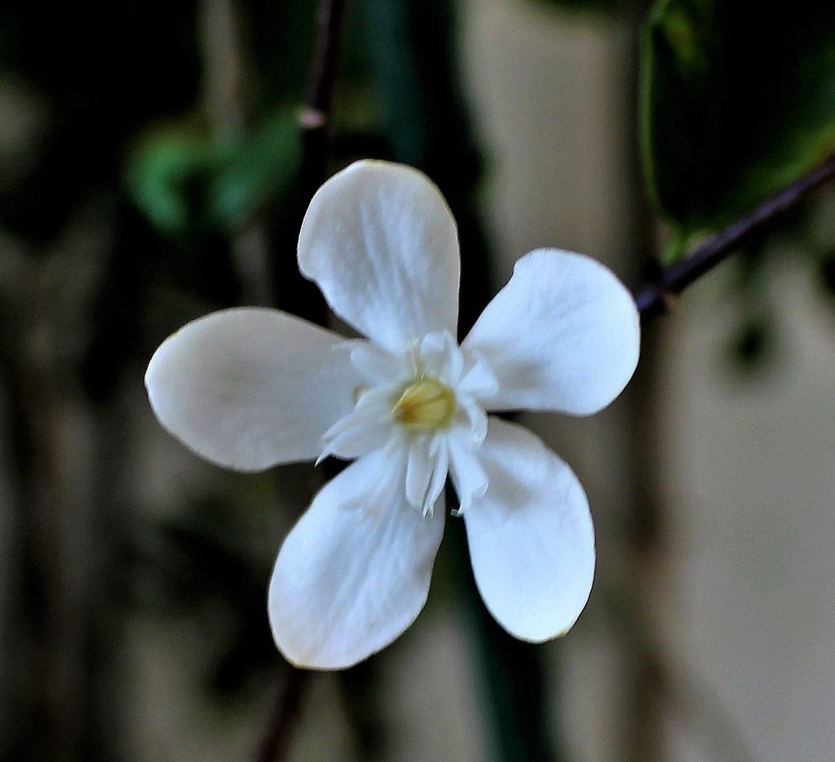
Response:
[{"label": "blurred brown vertical stem passing just behind the upper-right petal's tip", "polygon": [[[645,202],[645,187],[639,150],[640,36],[649,0],[619,0],[620,16],[626,31],[627,47],[621,69],[623,99],[621,161],[629,182],[622,245],[629,252],[627,277],[637,278],[650,260],[655,262],[655,220]],[[618,723],[620,759],[623,762],[659,762],[664,759],[665,707],[658,689],[654,660],[647,657],[643,644],[654,635],[657,607],[657,580],[664,578],[666,475],[660,464],[661,414],[658,399],[659,379],[665,373],[661,358],[660,332],[645,327],[641,339],[641,357],[635,377],[618,404],[623,418],[615,427],[627,463],[620,501],[623,505],[620,526],[609,528],[619,537],[625,554],[614,574],[623,578],[632,595],[622,602],[635,626],[618,627],[624,660],[623,689],[620,691]],[[612,572],[610,572],[612,573]],[[643,637],[638,638],[636,633]]]}]

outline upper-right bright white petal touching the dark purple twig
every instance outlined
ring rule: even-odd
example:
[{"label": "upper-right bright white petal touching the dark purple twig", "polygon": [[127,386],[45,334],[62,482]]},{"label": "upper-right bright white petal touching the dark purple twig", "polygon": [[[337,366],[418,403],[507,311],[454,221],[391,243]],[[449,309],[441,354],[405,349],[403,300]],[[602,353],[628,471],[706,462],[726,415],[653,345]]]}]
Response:
[{"label": "upper-right bright white petal touching the dark purple twig", "polygon": [[638,363],[640,326],[630,292],[582,254],[522,257],[463,346],[482,353],[499,389],[489,409],[586,415],[623,390]]}]

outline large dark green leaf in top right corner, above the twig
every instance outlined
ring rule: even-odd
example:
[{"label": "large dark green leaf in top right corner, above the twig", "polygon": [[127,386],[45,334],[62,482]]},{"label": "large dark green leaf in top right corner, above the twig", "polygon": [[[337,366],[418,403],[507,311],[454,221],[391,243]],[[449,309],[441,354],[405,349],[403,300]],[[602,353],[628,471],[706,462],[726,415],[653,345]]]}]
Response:
[{"label": "large dark green leaf in top right corner, above the twig", "polygon": [[644,42],[645,174],[681,236],[835,150],[835,3],[659,0]]}]

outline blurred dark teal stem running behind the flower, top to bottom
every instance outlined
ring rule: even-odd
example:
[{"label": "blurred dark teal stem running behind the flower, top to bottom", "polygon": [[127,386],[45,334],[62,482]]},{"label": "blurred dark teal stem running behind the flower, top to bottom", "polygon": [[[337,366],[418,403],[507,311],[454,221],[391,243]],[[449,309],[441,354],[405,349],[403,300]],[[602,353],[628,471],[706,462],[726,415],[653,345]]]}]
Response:
[{"label": "blurred dark teal stem running behind the flower, top to bottom", "polygon": [[[463,287],[460,333],[488,301],[488,245],[476,196],[482,159],[458,70],[458,28],[448,0],[366,0],[365,41],[383,129],[392,157],[415,165],[438,184],[458,222]],[[481,280],[478,280],[478,279]],[[460,563],[456,575],[477,663],[485,725],[493,749],[488,759],[557,762],[559,728],[549,726],[543,652],[511,638],[483,607],[469,571],[463,522],[451,521],[448,541]]]}]

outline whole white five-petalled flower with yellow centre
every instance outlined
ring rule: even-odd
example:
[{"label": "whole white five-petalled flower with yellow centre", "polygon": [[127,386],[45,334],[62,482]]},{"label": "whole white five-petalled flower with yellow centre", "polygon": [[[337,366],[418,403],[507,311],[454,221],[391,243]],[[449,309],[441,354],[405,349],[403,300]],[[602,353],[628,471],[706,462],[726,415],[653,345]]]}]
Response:
[{"label": "whole white five-petalled flower with yellow centre", "polygon": [[420,172],[378,161],[322,185],[298,261],[367,339],[231,309],[168,338],[145,377],[164,427],[219,465],[356,459],[279,551],[269,614],[281,653],[344,668],[414,621],[447,475],[493,617],[534,643],[566,632],[594,576],[583,488],[534,434],[487,411],[586,415],[609,404],[638,360],[630,293],[588,257],[531,251],[458,347],[453,217]]}]

